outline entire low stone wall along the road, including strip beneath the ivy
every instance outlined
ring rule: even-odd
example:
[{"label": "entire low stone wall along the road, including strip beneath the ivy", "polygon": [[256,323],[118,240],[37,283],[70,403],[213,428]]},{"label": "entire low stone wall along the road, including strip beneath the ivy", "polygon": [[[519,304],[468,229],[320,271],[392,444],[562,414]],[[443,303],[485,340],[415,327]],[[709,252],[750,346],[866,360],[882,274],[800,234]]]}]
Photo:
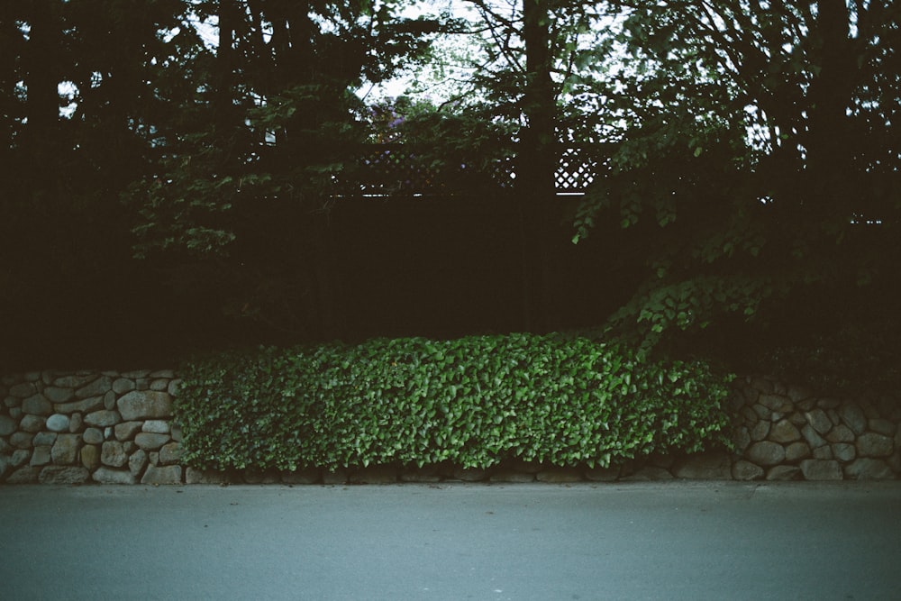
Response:
[{"label": "entire low stone wall along the road, including strip beneath the ivy", "polygon": [[830,398],[767,378],[739,381],[730,399],[736,452],[651,456],[615,469],[510,462],[494,469],[306,469],[210,472],[179,463],[172,370],[35,372],[0,378],[0,482],[7,484],[343,484],[887,479],[901,474],[901,403]]}]

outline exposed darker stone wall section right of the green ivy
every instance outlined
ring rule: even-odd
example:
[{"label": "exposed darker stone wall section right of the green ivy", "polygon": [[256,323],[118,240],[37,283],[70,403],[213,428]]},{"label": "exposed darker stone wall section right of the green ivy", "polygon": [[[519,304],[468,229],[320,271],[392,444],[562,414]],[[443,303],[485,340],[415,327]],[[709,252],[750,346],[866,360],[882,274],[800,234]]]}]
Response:
[{"label": "exposed darker stone wall section right of the green ivy", "polygon": [[887,479],[901,474],[901,404],[885,397],[818,397],[747,378],[735,395],[742,457],[733,478]]}]

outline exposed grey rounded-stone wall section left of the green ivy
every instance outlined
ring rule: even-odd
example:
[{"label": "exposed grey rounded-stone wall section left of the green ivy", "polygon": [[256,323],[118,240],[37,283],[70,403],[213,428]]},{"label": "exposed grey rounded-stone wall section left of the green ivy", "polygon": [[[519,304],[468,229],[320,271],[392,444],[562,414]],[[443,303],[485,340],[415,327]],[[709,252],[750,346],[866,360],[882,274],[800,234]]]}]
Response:
[{"label": "exposed grey rounded-stone wall section left of the green ivy", "polygon": [[0,380],[0,481],[176,484],[172,370],[33,372]]}]

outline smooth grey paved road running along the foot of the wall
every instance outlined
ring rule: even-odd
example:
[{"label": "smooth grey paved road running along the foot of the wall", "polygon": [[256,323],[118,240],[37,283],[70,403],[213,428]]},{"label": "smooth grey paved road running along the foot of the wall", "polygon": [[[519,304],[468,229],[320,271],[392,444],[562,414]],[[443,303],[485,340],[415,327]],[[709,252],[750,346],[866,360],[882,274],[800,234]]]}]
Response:
[{"label": "smooth grey paved road running along the foot of the wall", "polygon": [[0,598],[901,599],[901,482],[0,487]]}]

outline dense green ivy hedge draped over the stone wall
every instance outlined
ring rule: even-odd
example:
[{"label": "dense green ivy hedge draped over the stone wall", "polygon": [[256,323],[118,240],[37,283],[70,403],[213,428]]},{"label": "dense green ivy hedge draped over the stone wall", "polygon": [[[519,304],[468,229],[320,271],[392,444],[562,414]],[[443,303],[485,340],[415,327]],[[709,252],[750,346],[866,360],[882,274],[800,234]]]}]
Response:
[{"label": "dense green ivy hedge draped over the stone wall", "polygon": [[266,348],[195,360],[182,374],[185,459],[204,468],[607,466],[727,443],[728,378],[584,338]]}]

